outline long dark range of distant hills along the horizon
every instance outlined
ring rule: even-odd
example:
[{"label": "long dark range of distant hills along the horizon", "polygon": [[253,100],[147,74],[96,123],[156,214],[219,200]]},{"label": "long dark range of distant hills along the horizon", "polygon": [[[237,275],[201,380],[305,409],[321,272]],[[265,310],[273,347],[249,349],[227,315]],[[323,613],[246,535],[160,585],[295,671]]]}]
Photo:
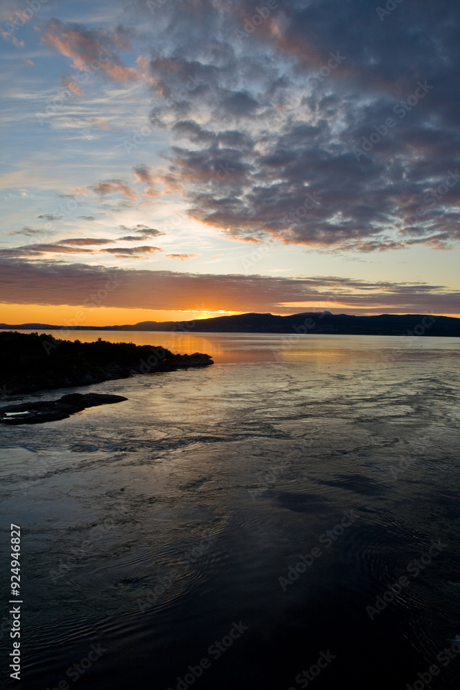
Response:
[{"label": "long dark range of distant hills along the horizon", "polygon": [[[423,314],[351,316],[306,312],[290,316],[237,314],[196,321],[141,321],[123,326],[0,324],[3,331],[181,331],[190,333],[323,333],[331,335],[431,335],[460,337],[460,319]],[[66,335],[64,338],[68,337]]]}]

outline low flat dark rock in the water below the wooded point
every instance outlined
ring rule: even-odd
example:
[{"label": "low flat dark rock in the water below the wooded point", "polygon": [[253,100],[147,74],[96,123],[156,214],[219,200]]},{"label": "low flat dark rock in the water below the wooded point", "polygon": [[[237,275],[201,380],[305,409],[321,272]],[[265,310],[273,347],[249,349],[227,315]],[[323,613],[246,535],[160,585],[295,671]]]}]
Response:
[{"label": "low flat dark rock in the water below the wooded point", "polygon": [[65,420],[87,407],[110,405],[128,400],[122,395],[102,395],[100,393],[69,393],[59,400],[45,402],[23,402],[19,405],[6,405],[0,408],[0,424],[42,424]]}]

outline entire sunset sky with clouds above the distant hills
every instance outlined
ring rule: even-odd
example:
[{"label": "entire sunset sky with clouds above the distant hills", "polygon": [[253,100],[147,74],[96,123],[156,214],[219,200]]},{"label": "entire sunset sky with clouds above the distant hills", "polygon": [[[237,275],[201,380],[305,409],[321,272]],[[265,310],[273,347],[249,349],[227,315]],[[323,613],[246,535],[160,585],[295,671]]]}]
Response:
[{"label": "entire sunset sky with clouds above the distant hills", "polygon": [[0,322],[460,316],[458,0],[3,0]]}]

